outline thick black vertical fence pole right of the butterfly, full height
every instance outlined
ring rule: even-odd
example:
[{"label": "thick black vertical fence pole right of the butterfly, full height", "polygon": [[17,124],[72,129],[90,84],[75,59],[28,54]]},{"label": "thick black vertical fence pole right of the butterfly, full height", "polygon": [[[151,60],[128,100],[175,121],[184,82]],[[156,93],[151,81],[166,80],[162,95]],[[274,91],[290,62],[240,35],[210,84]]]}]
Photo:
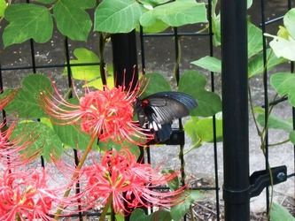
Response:
[{"label": "thick black vertical fence pole right of the butterfly, full height", "polygon": [[250,220],[246,0],[221,1],[225,220]]}]

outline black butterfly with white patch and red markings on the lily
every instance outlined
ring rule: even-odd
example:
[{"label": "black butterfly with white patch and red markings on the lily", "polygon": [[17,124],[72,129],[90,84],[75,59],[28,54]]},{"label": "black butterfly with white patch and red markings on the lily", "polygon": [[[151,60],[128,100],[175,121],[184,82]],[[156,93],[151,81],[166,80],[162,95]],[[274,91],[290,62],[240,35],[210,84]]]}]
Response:
[{"label": "black butterfly with white patch and red markings on the lily", "polygon": [[136,111],[139,124],[155,133],[156,141],[166,141],[172,133],[172,121],[190,114],[198,106],[196,100],[182,92],[159,92],[144,99],[137,98]]}]

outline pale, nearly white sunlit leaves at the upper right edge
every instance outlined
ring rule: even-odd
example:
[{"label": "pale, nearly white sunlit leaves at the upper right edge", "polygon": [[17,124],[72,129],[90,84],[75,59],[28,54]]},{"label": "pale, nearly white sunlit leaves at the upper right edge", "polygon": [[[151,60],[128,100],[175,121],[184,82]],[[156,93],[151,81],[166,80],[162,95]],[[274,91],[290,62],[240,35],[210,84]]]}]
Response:
[{"label": "pale, nearly white sunlit leaves at the upper right edge", "polygon": [[295,9],[291,9],[283,17],[283,24],[278,35],[265,34],[274,40],[269,42],[270,47],[275,51],[277,57],[284,57],[295,61]]}]

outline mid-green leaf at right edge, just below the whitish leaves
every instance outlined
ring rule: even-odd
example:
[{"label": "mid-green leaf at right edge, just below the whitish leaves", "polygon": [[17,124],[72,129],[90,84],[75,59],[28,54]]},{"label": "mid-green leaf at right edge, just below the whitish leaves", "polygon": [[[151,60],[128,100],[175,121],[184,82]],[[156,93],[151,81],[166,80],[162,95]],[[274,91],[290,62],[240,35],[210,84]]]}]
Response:
[{"label": "mid-green leaf at right edge, just below the whitish leaves", "polygon": [[295,74],[278,72],[270,77],[270,83],[279,95],[288,95],[288,100],[295,107]]}]

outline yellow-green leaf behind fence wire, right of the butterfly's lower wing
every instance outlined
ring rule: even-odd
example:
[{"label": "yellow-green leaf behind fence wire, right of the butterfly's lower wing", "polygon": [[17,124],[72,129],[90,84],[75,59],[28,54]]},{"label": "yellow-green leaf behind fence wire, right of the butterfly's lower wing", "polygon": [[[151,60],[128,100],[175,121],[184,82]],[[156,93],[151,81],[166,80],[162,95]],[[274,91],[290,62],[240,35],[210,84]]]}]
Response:
[{"label": "yellow-green leaf behind fence wire, right of the butterfly's lower wing", "polygon": [[[222,120],[215,119],[216,141],[222,141]],[[213,119],[199,119],[196,125],[197,135],[201,141],[213,142]]]}]

